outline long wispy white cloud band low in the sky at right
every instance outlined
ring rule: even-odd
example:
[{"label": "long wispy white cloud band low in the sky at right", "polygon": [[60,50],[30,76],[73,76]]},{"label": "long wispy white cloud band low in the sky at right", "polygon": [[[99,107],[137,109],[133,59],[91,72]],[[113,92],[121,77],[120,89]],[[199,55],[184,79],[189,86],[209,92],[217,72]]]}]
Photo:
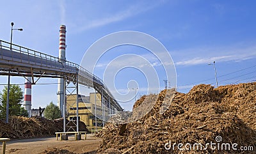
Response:
[{"label": "long wispy white cloud band low in the sky at right", "polygon": [[[218,51],[218,52],[216,52]],[[170,52],[172,55],[173,52]],[[159,53],[161,54],[161,53]],[[174,56],[177,54],[177,52],[174,52]],[[220,56],[216,56],[216,54],[219,54]],[[159,61],[156,56],[153,56],[152,54],[141,54],[141,57],[148,60],[151,66],[163,66],[163,65],[172,65],[169,61],[163,61],[163,64],[161,61]],[[142,63],[140,61],[140,56],[138,58],[127,58],[120,59],[115,61],[115,64],[113,66],[119,67],[120,65],[133,65],[138,66],[138,68],[147,68],[149,67],[148,64]],[[225,61],[244,61],[247,59],[256,58],[256,46],[248,46],[248,47],[202,47],[202,48],[196,48],[196,49],[187,49],[187,50],[180,50],[179,55],[179,61],[175,62],[175,65],[177,66],[190,66],[190,65],[206,65],[208,63],[212,63],[212,61],[216,61],[218,63],[225,62]],[[182,59],[182,58],[186,59]],[[141,62],[141,63],[140,63]],[[106,68],[109,63],[97,63],[97,68]]]}]

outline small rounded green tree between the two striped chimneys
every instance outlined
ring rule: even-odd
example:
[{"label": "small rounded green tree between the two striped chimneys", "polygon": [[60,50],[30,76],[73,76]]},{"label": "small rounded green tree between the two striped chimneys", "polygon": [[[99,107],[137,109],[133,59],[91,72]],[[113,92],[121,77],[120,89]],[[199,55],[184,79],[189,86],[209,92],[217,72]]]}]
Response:
[{"label": "small rounded green tree between the two striped chimneys", "polygon": [[51,102],[45,107],[44,117],[47,119],[61,118],[60,108]]}]

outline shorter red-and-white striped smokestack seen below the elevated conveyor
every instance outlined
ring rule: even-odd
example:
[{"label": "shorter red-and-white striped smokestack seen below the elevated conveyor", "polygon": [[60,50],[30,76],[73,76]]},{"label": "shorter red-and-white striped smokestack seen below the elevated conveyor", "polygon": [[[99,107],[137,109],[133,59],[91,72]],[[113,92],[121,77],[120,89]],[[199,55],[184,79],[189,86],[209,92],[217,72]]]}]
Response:
[{"label": "shorter red-and-white striped smokestack seen below the elevated conveyor", "polygon": [[31,77],[27,77],[24,90],[24,106],[26,111],[31,111]]}]

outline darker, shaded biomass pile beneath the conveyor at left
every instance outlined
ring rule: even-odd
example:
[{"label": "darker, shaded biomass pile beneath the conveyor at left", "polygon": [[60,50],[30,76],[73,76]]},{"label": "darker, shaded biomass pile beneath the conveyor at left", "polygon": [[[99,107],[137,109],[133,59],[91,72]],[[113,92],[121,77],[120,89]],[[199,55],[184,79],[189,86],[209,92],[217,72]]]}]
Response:
[{"label": "darker, shaded biomass pile beneath the conveyor at left", "polygon": [[[80,131],[88,131],[82,121],[79,121],[79,128]],[[22,139],[50,136],[55,132],[63,132],[63,119],[49,120],[42,117],[11,116],[8,124],[0,120],[0,137]]]}]

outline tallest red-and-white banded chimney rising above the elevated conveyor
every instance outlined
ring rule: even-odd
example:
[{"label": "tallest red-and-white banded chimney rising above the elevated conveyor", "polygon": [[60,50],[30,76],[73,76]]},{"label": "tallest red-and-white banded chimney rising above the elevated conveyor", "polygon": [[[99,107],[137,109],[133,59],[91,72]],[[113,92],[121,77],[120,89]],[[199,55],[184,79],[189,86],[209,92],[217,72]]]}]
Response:
[{"label": "tallest red-and-white banded chimney rising above the elevated conveyor", "polygon": [[[59,61],[61,63],[65,63],[66,56],[65,56],[65,50],[66,50],[66,26],[61,25],[60,26],[60,44],[59,44]],[[64,79],[60,78],[58,79],[58,106],[60,107],[61,116],[63,117],[63,104],[64,104]]]}]

